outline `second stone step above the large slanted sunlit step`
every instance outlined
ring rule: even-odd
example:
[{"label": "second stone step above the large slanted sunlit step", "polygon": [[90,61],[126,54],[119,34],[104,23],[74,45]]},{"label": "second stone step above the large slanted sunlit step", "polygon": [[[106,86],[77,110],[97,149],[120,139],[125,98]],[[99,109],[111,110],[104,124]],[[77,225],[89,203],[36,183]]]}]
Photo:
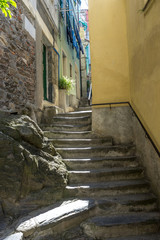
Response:
[{"label": "second stone step above the large slanted sunlit step", "polygon": [[117,181],[140,179],[144,177],[143,169],[138,167],[119,167],[119,168],[103,168],[103,169],[90,169],[90,170],[77,170],[69,171],[69,183],[85,183],[88,182],[104,182],[104,181]]}]

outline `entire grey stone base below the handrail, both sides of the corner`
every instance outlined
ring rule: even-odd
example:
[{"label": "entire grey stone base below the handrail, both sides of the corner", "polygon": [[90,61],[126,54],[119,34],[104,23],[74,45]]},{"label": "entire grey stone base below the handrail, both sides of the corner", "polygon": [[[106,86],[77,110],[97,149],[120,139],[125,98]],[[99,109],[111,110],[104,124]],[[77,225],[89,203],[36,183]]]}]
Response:
[{"label": "entire grey stone base below the handrail, both sides of the corner", "polygon": [[160,158],[131,108],[93,108],[92,129],[102,137],[113,137],[114,144],[136,145],[136,156],[144,167],[160,205]]}]

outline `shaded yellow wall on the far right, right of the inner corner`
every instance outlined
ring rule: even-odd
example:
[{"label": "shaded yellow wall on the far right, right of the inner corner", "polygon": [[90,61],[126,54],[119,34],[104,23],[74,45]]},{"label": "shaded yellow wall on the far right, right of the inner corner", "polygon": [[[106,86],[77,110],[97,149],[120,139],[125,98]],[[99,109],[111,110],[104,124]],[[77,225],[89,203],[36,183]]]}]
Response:
[{"label": "shaded yellow wall on the far right, right of the inner corner", "polygon": [[160,1],[126,0],[131,104],[160,150]]}]

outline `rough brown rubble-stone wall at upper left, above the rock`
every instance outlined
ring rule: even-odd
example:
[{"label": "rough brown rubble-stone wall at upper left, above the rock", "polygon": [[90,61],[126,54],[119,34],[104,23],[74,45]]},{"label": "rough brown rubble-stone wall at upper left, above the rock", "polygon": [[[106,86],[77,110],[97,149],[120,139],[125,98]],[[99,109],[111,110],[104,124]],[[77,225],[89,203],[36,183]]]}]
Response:
[{"label": "rough brown rubble-stone wall at upper left, above the rock", "polygon": [[21,112],[35,100],[35,40],[23,27],[21,1],[12,12],[12,19],[0,13],[0,109]]}]

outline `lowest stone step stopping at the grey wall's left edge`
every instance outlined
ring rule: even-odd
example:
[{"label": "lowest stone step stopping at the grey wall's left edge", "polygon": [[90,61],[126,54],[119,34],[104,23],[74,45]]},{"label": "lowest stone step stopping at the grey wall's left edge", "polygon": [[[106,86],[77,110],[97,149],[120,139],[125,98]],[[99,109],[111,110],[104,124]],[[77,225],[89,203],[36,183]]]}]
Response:
[{"label": "lowest stone step stopping at the grey wall's left edge", "polygon": [[91,131],[68,132],[68,131],[44,131],[44,136],[51,139],[84,139],[92,138]]}]

